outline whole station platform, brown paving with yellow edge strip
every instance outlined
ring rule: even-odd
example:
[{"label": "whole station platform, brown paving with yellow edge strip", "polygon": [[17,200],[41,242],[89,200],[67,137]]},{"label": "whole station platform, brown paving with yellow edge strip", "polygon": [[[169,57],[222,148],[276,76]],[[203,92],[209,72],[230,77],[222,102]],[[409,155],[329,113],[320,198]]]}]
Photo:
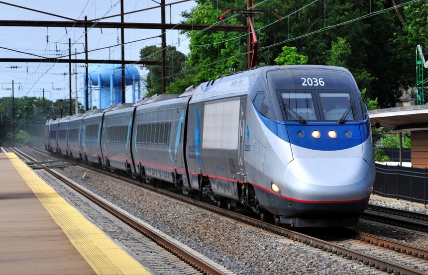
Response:
[{"label": "whole station platform, brown paving with yellow edge strip", "polygon": [[13,153],[0,153],[1,274],[150,274]]}]

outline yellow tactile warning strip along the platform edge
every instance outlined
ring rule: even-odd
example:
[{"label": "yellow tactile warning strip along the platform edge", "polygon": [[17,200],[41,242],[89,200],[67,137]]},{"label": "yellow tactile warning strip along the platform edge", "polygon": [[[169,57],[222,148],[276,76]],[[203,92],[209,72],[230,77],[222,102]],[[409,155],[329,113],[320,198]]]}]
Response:
[{"label": "yellow tactile warning strip along the platform edge", "polygon": [[60,196],[53,187],[45,183],[14,153],[5,154],[70,242],[97,274],[151,274]]}]

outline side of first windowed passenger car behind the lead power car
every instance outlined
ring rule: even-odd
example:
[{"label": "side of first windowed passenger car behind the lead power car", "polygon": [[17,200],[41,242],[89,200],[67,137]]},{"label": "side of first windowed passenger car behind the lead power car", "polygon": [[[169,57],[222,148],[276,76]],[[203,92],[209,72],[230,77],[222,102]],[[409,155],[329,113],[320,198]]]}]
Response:
[{"label": "side of first windowed passenger car behind the lead power car", "polygon": [[183,155],[189,97],[140,105],[135,110],[132,155],[141,176],[189,188]]}]

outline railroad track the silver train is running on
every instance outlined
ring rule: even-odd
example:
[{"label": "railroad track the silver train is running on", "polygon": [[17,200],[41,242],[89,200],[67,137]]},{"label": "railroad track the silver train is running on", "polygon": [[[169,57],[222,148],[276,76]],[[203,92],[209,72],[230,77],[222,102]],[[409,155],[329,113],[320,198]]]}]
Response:
[{"label": "railroad track the silver train is running on", "polygon": [[[85,168],[94,169],[91,167]],[[122,181],[141,186],[141,183],[128,178],[112,175],[104,170],[94,170],[98,173],[107,174],[110,177],[115,177]],[[296,231],[285,227],[275,226],[273,224],[260,221],[257,218],[218,208],[212,204],[194,200],[181,194],[173,193],[155,186],[143,184],[143,187],[251,226],[274,232],[295,242],[330,252],[348,260],[358,261],[366,266],[388,272],[389,274],[428,274],[428,268],[425,268],[428,267],[428,251],[423,248],[346,228],[340,229],[340,235],[346,236],[344,240],[341,238],[342,240],[340,241],[331,241],[331,234],[325,237],[320,236],[316,233],[317,230],[309,230],[309,233],[304,234],[303,232],[305,232],[305,230],[299,229],[299,231]]]}]

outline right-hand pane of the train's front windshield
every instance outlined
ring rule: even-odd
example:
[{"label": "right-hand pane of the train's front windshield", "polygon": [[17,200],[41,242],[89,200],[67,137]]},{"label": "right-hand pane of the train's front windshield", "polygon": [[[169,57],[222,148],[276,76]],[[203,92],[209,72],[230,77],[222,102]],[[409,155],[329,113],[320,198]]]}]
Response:
[{"label": "right-hand pane of the train's front windshield", "polygon": [[324,120],[354,120],[349,92],[320,92],[319,95]]}]

